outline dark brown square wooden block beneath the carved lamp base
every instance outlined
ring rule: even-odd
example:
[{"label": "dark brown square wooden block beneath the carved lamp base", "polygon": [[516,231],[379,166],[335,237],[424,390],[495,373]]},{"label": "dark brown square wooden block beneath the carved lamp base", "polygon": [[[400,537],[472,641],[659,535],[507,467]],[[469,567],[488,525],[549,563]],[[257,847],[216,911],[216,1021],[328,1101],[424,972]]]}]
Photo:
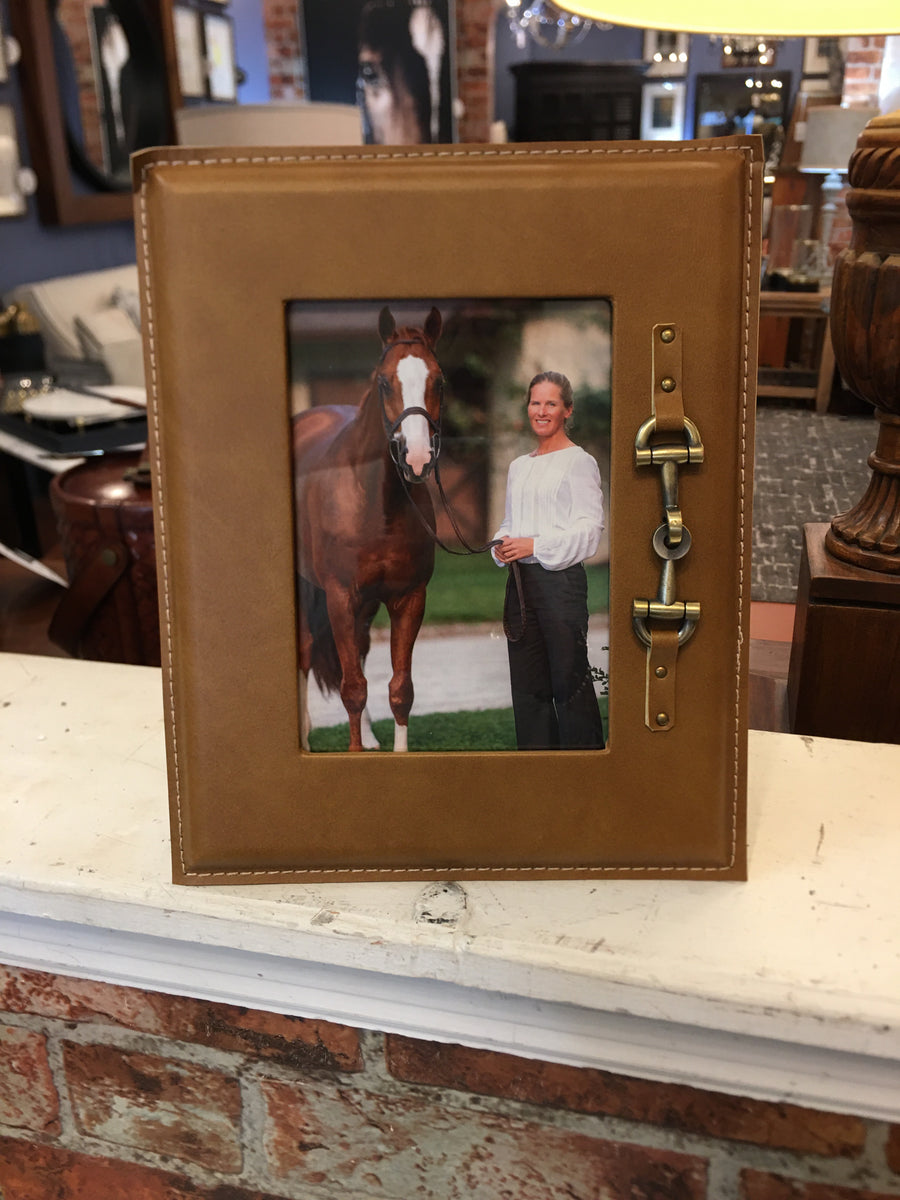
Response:
[{"label": "dark brown square wooden block beneath the carved lamp base", "polygon": [[900,576],[860,570],[803,527],[787,676],[792,733],[900,743]]}]

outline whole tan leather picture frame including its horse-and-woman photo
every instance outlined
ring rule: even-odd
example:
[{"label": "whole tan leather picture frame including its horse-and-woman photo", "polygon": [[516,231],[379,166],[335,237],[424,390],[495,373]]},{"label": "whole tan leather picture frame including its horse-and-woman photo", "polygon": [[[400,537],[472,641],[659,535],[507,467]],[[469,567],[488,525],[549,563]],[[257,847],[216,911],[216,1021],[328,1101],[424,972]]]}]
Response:
[{"label": "whole tan leather picture frame including its horse-and-woman photo", "polygon": [[174,880],[744,878],[758,139],[133,173]]}]

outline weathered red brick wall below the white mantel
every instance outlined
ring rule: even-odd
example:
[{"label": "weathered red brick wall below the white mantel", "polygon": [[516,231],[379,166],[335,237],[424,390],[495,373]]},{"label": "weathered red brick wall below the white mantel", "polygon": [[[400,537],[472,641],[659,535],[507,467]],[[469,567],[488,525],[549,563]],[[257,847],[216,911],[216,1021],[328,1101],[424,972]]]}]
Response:
[{"label": "weathered red brick wall below the white mantel", "polygon": [[888,1200],[900,1126],[0,967],[5,1200]]}]

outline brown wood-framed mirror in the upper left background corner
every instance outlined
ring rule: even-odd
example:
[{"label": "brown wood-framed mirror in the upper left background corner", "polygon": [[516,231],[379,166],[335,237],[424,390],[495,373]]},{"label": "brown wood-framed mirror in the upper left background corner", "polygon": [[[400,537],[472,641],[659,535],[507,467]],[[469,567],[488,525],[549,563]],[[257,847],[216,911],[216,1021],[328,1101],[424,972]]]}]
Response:
[{"label": "brown wood-framed mirror in the upper left background corner", "polygon": [[128,156],[172,140],[167,0],[10,0],[42,221],[130,220]]}]

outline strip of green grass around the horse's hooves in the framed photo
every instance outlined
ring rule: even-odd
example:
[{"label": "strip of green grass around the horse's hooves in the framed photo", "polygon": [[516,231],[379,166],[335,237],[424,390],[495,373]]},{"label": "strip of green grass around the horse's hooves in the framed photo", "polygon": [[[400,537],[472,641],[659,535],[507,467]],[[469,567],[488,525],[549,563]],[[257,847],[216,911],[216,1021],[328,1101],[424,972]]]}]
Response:
[{"label": "strip of green grass around the horse's hooves in the framed photo", "polygon": [[[608,728],[608,697],[600,696],[600,712],[604,728]],[[394,745],[394,721],[374,721],[376,737],[383,750]],[[332,725],[325,730],[313,730],[310,733],[311,750],[346,750],[349,742],[349,727]],[[516,728],[512,722],[511,708],[491,708],[481,713],[426,713],[424,716],[409,718],[409,749],[439,750],[515,750]]]}]

